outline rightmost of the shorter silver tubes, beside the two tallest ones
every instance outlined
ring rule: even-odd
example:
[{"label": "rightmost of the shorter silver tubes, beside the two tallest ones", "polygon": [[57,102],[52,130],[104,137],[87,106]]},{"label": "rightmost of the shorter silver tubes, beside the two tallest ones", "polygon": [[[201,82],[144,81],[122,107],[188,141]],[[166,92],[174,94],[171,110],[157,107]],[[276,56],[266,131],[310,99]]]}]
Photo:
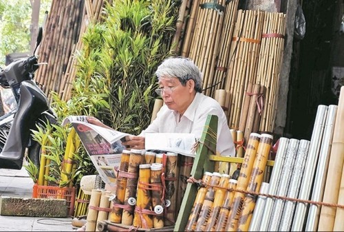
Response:
[{"label": "rightmost of the shorter silver tubes, beside the two tallest ones", "polygon": [[[297,198],[299,195],[303,170],[305,168],[305,160],[307,160],[308,150],[310,148],[309,140],[300,140],[299,149],[297,149],[297,159],[292,170],[292,178],[290,180],[287,193],[288,198]],[[279,231],[290,231],[292,226],[292,215],[294,214],[295,202],[287,200],[284,204],[283,215],[279,223]]]}]

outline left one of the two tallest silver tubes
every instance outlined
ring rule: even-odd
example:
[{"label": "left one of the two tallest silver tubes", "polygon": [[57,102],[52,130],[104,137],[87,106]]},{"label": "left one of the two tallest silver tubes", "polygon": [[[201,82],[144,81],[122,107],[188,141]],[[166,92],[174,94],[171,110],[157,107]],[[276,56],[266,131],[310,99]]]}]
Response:
[{"label": "left one of the two tallest silver tubes", "polygon": [[[310,198],[310,189],[312,188],[316,160],[318,160],[319,157],[321,140],[323,138],[327,108],[327,105],[319,105],[316,111],[312,138],[310,139],[310,151],[308,151],[308,158],[305,162],[305,171],[303,172],[299,192],[300,200],[309,200]],[[303,202],[297,203],[297,209],[295,210],[294,220],[292,222],[292,231],[302,231],[307,207],[308,205]]]}]

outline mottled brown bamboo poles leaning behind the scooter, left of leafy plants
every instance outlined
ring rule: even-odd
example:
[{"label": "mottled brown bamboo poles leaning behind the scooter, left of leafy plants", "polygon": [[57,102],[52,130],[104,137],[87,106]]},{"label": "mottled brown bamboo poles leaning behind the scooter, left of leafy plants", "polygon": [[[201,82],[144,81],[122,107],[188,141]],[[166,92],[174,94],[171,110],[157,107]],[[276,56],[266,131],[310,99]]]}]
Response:
[{"label": "mottled brown bamboo poles leaning behind the scooter, left of leafy plants", "polygon": [[47,62],[36,73],[36,81],[50,97],[57,92],[63,100],[70,98],[76,75],[76,50],[82,48],[81,36],[89,21],[99,21],[105,0],[52,1],[43,30],[39,61]]}]

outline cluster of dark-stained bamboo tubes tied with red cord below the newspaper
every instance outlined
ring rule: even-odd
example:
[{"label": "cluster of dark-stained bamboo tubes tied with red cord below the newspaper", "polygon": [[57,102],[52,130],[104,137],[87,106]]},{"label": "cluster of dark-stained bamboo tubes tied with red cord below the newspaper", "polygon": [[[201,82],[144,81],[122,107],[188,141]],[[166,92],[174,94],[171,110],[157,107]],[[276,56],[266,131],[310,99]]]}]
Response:
[{"label": "cluster of dark-stained bamboo tubes tied with red cord below the newspaper", "polygon": [[193,158],[172,152],[122,151],[109,221],[144,229],[173,225],[192,163]]}]

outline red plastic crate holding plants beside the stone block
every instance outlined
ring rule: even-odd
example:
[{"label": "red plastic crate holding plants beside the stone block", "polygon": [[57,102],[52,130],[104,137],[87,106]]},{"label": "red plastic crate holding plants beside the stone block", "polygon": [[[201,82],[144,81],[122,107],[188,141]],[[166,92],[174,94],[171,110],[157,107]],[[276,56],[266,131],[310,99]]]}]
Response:
[{"label": "red plastic crate holding plants beside the stone block", "polygon": [[32,198],[65,199],[67,202],[68,215],[74,215],[75,188],[43,186],[34,184]]}]

